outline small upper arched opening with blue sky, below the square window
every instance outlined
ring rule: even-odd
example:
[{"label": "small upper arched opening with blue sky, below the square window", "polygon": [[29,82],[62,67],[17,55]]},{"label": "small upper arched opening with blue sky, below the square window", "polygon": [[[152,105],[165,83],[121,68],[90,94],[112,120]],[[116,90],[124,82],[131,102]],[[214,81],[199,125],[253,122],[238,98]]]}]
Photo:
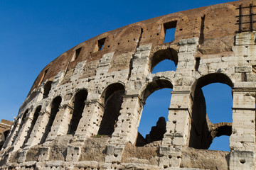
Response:
[{"label": "small upper arched opening with blue sky, below the square window", "polygon": [[[169,60],[169,62],[168,62]],[[155,68],[157,64],[164,61],[161,64],[164,64],[164,67]],[[154,72],[157,72],[157,69],[160,69],[160,72],[165,71],[176,71],[176,66],[178,64],[178,52],[172,48],[167,48],[165,50],[159,50],[154,53],[154,55],[151,57],[150,60],[150,72],[154,70]],[[163,70],[164,68],[164,70]]]}]

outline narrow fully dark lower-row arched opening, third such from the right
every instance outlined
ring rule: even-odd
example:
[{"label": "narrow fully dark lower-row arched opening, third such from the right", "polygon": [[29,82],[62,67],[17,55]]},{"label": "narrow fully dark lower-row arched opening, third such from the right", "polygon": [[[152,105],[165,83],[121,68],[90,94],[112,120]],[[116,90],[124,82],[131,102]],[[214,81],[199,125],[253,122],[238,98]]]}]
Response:
[{"label": "narrow fully dark lower-row arched opening, third such from the right", "polygon": [[48,123],[46,125],[45,131],[43,133],[43,137],[41,139],[40,144],[42,144],[43,142],[46,142],[46,138],[48,137],[48,134],[50,133],[50,129],[53,125],[55,116],[57,115],[57,113],[59,111],[61,100],[62,100],[62,98],[60,96],[57,96],[53,99],[53,103],[51,104],[51,109],[50,109],[50,117],[49,117]]}]

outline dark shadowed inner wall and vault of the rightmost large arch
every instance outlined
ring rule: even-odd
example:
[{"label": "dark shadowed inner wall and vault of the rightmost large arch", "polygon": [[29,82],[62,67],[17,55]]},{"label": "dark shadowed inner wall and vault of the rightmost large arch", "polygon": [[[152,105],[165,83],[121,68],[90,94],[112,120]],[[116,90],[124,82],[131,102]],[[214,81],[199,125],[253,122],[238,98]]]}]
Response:
[{"label": "dark shadowed inner wall and vault of the rightmost large arch", "polygon": [[[233,88],[233,81],[225,74],[206,74],[199,78],[191,87],[193,96],[191,131],[189,147],[208,149],[214,137],[231,135],[232,123],[211,123],[206,113],[206,100],[201,88],[208,84],[220,83]],[[231,91],[230,91],[231,92]]]}]

